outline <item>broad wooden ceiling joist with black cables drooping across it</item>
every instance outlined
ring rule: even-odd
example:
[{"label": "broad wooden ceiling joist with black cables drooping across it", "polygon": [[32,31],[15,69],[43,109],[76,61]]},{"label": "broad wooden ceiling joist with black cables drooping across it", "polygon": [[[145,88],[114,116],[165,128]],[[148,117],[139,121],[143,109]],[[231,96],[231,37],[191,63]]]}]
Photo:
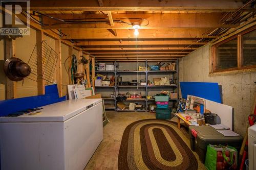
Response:
[{"label": "broad wooden ceiling joist with black cables drooping across it", "polygon": [[[44,21],[44,29],[132,29],[132,25],[120,22],[120,20],[133,23],[139,22],[143,29],[166,29],[166,28],[235,28],[238,25],[220,24],[224,13],[163,13],[163,14],[111,14],[107,11],[105,14],[48,14],[49,16],[66,20],[61,22],[47,16],[41,16]],[[101,19],[100,19],[101,18]],[[102,19],[104,18],[104,19]],[[121,18],[121,19],[120,19]],[[122,19],[123,18],[123,19]],[[127,18],[127,19],[125,19]],[[141,18],[141,19],[134,19]],[[70,23],[68,20],[92,21],[95,23]],[[102,21],[100,23],[100,21]]]}]

